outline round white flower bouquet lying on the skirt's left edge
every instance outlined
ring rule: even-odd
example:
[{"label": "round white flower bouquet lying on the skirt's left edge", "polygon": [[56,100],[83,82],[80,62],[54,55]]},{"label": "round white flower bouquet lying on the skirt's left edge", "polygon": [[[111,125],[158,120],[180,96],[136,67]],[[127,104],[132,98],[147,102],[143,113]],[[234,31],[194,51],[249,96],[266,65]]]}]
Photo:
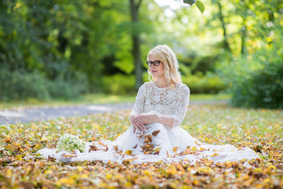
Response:
[{"label": "round white flower bouquet lying on the skirt's left edge", "polygon": [[57,151],[67,151],[73,152],[76,149],[83,152],[86,151],[86,142],[83,142],[79,139],[78,136],[74,136],[72,134],[64,134],[60,137],[59,142],[57,142]]}]

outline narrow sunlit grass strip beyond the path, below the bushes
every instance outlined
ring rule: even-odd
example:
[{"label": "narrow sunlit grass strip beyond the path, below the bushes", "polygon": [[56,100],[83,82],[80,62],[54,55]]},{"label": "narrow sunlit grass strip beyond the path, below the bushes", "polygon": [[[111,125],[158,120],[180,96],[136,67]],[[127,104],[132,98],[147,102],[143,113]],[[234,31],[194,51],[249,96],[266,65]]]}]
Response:
[{"label": "narrow sunlit grass strip beyond the path, below the bushes", "polygon": [[[49,101],[38,101],[37,99],[30,98],[26,101],[13,101],[13,102],[1,102],[0,110],[4,109],[18,109],[18,108],[37,108],[43,106],[65,106],[65,105],[82,105],[82,104],[98,104],[98,103],[125,103],[135,101],[135,95],[105,95],[105,94],[88,94],[81,96],[74,100],[60,100],[54,99]],[[191,101],[219,101],[227,100],[231,96],[228,94],[191,94]]]}]

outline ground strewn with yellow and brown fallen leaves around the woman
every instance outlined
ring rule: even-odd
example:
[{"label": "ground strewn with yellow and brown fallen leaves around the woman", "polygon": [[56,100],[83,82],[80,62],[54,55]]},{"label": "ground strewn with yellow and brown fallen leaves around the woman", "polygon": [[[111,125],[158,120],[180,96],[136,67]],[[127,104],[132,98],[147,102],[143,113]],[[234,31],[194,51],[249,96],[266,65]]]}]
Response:
[{"label": "ground strewn with yellow and brown fallen leaves around the woman", "polygon": [[61,134],[76,134],[88,142],[115,139],[129,127],[128,116],[129,110],[0,126],[0,187],[283,188],[283,110],[190,106],[182,126],[185,130],[209,144],[250,147],[261,156],[252,161],[62,164],[35,154],[44,147],[54,148]]}]

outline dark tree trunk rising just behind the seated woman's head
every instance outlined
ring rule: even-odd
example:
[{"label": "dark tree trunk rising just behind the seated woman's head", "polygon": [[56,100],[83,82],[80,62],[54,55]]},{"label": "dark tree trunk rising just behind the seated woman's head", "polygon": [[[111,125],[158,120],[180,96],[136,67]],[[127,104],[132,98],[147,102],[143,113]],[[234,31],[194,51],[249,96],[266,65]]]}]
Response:
[{"label": "dark tree trunk rising just behind the seated woman's head", "polygon": [[[139,0],[137,3],[135,3],[134,0],[129,0],[133,27],[136,27],[139,21],[138,16],[139,16],[139,6],[141,5],[141,1],[142,0]],[[142,84],[140,40],[139,40],[139,33],[134,33],[134,30],[132,30],[131,34],[132,34],[132,55],[134,57],[134,65],[135,65],[134,74],[136,76],[135,88],[138,90]]]}]

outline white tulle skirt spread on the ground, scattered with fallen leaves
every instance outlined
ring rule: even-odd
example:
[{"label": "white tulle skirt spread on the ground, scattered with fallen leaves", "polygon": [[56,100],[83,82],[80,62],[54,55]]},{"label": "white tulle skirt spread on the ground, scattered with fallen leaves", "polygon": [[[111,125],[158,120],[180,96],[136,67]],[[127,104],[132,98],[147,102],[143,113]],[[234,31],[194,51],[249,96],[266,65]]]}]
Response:
[{"label": "white tulle skirt spread on the ground, scattered with fallen leaves", "polygon": [[142,164],[144,162],[187,161],[195,164],[202,159],[212,160],[214,163],[225,161],[241,161],[242,159],[257,159],[260,156],[248,147],[238,150],[231,144],[205,144],[192,137],[181,127],[170,128],[159,122],[146,125],[145,132],[134,134],[133,126],[120,134],[114,141],[101,140],[87,142],[86,151],[76,150],[76,154],[66,151],[57,152],[57,149],[40,149],[42,157],[52,157],[57,161],[109,161],[123,164]]}]

